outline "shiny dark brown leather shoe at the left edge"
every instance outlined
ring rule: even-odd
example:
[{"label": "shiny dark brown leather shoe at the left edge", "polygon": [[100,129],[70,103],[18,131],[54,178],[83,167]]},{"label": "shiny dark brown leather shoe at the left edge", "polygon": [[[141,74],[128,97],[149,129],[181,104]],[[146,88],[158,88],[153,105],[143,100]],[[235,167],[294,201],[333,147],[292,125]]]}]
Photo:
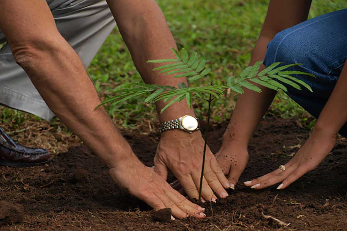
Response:
[{"label": "shiny dark brown leather shoe at the left edge", "polygon": [[50,161],[48,151],[16,144],[0,127],[0,165],[28,167]]}]

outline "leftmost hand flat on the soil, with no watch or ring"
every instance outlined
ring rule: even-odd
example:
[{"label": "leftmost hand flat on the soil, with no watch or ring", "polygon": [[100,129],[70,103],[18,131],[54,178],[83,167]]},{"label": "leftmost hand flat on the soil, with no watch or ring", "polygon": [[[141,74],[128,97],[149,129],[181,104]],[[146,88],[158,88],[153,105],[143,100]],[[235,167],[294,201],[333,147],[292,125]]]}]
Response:
[{"label": "leftmost hand flat on the soil, with no watch or ring", "polygon": [[172,189],[152,168],[143,165],[134,153],[129,156],[129,160],[110,168],[110,175],[119,186],[155,210],[171,208],[172,214],[178,218],[193,215],[198,218],[205,217],[204,208],[193,204]]}]

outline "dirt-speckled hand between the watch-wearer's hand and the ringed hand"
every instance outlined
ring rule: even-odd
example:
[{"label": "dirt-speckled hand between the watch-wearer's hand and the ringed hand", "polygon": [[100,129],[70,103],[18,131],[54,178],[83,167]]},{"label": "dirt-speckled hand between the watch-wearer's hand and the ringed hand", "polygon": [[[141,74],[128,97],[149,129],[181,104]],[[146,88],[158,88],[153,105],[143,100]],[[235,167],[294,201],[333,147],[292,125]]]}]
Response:
[{"label": "dirt-speckled hand between the watch-wearer's hand and the ringed hand", "polygon": [[230,188],[235,189],[239,177],[246,168],[248,152],[247,149],[242,147],[232,144],[228,145],[222,144],[215,157],[223,173],[228,176]]}]

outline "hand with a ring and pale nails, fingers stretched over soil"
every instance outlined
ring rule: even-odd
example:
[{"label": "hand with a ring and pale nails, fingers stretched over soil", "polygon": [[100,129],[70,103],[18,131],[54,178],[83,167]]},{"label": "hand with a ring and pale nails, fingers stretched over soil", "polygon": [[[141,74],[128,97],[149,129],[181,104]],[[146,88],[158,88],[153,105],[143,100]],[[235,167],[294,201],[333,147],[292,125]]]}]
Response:
[{"label": "hand with a ring and pale nails, fingers stretched over soil", "polygon": [[329,154],[335,143],[336,134],[329,134],[323,130],[317,131],[315,129],[302,148],[284,165],[284,171],[278,168],[262,177],[246,181],[244,184],[254,189],[262,189],[282,182],[277,189],[285,189],[317,167]]}]

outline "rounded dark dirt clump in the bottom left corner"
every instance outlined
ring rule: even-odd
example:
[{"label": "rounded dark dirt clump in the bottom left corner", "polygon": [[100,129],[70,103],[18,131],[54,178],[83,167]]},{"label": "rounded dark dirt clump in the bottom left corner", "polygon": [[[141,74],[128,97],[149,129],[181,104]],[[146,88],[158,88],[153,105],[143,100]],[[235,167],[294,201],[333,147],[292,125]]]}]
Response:
[{"label": "rounded dark dirt clump in the bottom left corner", "polygon": [[0,201],[0,229],[1,225],[15,224],[23,220],[23,205]]}]

